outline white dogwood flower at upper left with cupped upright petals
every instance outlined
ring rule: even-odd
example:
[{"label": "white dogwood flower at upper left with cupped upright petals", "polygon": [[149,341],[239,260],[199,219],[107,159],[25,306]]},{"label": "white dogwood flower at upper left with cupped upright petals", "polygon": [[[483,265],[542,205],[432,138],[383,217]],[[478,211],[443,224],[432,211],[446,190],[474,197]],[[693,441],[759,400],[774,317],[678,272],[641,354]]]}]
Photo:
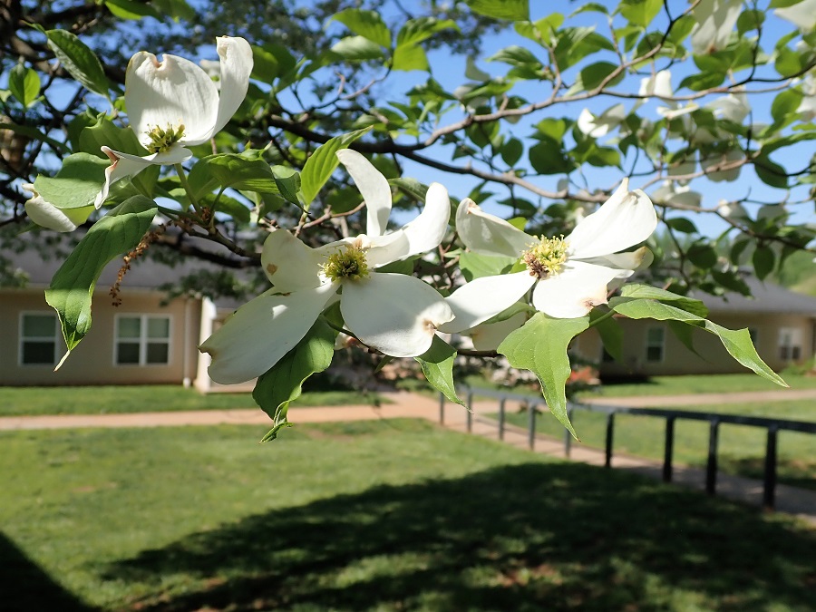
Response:
[{"label": "white dogwood flower at upper left with cupped upright petals", "polygon": [[140,157],[102,147],[111,166],[94,202],[96,208],[102,206],[114,181],[138,174],[151,164],[189,160],[192,153],[187,147],[209,141],[238,111],[247,95],[252,48],[243,38],[220,36],[216,49],[219,85],[197,63],[183,57],[165,53],[159,62],[146,51],[131,57],[125,74],[125,106],[131,130],[150,155]]}]

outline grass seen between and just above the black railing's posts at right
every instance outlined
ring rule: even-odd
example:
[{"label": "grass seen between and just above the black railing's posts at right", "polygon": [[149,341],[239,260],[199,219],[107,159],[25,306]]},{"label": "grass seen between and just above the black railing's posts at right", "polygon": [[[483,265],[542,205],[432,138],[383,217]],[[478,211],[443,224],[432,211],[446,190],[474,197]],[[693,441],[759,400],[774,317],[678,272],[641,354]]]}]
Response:
[{"label": "grass seen between and just above the black railing's posts at right", "polygon": [[[793,421],[814,421],[812,400],[787,400],[763,403],[725,403],[719,405],[672,406],[672,410],[764,416]],[[577,411],[573,424],[580,443],[604,448],[606,415]],[[526,413],[507,415],[507,422],[528,427]],[[563,436],[563,427],[547,414],[536,420],[536,431]],[[626,452],[663,461],[665,420],[657,417],[618,414],[615,417],[615,452]],[[816,489],[816,435],[780,432],[778,441],[778,475],[781,482]],[[708,452],[708,423],[678,420],[675,422],[675,453],[678,463],[704,467]],[[765,430],[743,425],[720,425],[718,467],[721,471],[762,479],[765,452]]]}]

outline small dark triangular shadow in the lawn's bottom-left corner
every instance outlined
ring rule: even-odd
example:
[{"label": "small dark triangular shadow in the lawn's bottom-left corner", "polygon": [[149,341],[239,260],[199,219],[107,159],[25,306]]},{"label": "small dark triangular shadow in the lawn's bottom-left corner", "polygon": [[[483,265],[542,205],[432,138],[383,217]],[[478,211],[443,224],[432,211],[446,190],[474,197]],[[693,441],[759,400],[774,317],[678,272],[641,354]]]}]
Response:
[{"label": "small dark triangular shadow in the lawn's bottom-left corner", "polygon": [[0,532],[0,610],[4,612],[93,612],[53,581],[15,543]]}]

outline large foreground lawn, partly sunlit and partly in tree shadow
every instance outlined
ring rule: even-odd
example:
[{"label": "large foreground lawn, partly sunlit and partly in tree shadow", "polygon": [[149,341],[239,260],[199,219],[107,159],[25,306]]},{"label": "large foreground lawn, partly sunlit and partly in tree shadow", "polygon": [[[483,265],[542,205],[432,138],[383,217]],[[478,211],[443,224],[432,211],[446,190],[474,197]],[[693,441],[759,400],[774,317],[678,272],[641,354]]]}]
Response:
[{"label": "large foreground lawn, partly sunlit and partly in tree shadow", "polygon": [[816,531],[414,421],[0,434],[7,610],[812,610]]}]

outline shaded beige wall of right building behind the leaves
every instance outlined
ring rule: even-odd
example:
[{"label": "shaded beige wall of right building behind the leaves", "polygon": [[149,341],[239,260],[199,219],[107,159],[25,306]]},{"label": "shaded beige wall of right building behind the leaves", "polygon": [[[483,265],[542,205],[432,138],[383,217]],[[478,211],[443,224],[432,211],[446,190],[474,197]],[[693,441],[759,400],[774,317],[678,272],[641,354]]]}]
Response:
[{"label": "shaded beige wall of right building behind the leaves", "polygon": [[[756,330],[757,353],[772,370],[782,370],[789,363],[782,360],[779,351],[779,331],[782,327],[801,330],[801,359],[804,361],[816,351],[813,345],[816,317],[801,315],[717,315],[710,318],[718,325],[729,329],[743,327]],[[694,330],[695,349],[702,356],[690,352],[661,321],[618,318],[624,332],[624,364],[617,362],[599,365],[602,374],[647,375],[647,374],[729,374],[748,372],[725,351],[719,338],[701,329]],[[665,328],[665,351],[662,362],[646,361],[646,334],[650,327]],[[595,330],[578,337],[571,350],[599,362],[601,356],[600,338]]]}]

